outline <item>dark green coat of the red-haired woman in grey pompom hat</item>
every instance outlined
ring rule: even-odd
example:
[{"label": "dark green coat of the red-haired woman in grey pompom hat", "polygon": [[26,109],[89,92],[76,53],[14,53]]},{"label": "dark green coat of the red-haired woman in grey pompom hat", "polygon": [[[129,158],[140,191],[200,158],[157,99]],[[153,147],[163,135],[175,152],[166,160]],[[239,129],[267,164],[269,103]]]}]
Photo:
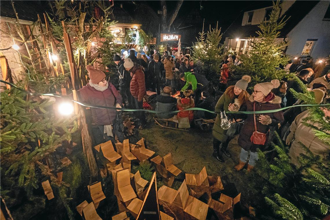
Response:
[{"label": "dark green coat of the red-haired woman in grey pompom hat", "polygon": [[[229,95],[223,94],[215,105],[215,111],[216,112],[228,111],[228,106],[230,103],[235,103],[235,96],[233,98],[230,98]],[[246,110],[246,104],[243,103],[240,107],[240,111],[245,111],[245,110]],[[244,118],[244,115],[227,114],[227,118],[228,118],[228,120],[229,119],[235,119],[235,120],[242,119],[242,118]],[[220,114],[217,114],[216,118],[215,118],[215,123],[213,125],[212,134],[215,139],[217,139],[218,141],[224,142],[227,140],[227,135],[226,135],[227,130],[224,130],[223,128],[221,128],[220,124],[221,124],[221,117],[220,117]]]}]

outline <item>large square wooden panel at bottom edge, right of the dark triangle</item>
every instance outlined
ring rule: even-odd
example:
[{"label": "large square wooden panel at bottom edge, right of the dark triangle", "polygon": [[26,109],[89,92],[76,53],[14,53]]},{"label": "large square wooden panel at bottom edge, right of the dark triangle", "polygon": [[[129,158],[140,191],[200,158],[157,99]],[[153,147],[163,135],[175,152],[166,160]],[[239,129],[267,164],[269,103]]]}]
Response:
[{"label": "large square wooden panel at bottom edge, right of the dark triangle", "polygon": [[205,220],[208,208],[209,206],[207,204],[192,196],[189,196],[186,207],[183,209],[183,211],[198,220]]}]

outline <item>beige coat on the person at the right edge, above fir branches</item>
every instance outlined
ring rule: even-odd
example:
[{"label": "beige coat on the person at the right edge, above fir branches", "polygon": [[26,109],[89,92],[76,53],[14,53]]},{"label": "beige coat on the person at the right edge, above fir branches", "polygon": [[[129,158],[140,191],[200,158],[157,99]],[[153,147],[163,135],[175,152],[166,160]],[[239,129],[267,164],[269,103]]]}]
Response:
[{"label": "beige coat on the person at the right edge, above fir branches", "polygon": [[[291,133],[288,135],[286,139],[291,142],[289,156],[291,157],[291,162],[295,165],[299,165],[297,159],[299,154],[301,153],[306,154],[304,149],[300,146],[299,142],[304,144],[310,151],[312,151],[314,155],[321,156],[322,159],[325,159],[326,156],[328,156],[330,153],[329,146],[315,136],[312,128],[307,127],[303,124],[302,119],[308,116],[309,116],[309,111],[306,110],[300,113],[295,118],[295,120],[292,122],[290,126]],[[313,124],[317,128],[320,127],[319,125],[314,124],[311,121],[307,121],[307,123]],[[326,131],[326,132],[329,134],[330,131]]]}]

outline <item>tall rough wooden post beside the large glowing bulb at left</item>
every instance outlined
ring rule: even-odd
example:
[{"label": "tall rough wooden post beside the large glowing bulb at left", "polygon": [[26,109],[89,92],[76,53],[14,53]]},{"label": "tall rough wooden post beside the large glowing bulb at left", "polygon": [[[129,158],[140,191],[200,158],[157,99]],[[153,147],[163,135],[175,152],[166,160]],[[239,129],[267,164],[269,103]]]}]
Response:
[{"label": "tall rough wooden post beside the large glowing bulb at left", "polygon": [[[70,67],[72,92],[74,95],[73,98],[75,101],[78,101],[78,97],[77,97],[77,93],[76,93],[76,90],[79,89],[78,83],[77,83],[77,66],[76,66],[76,63],[75,63],[75,60],[73,57],[71,41],[70,41],[69,34],[66,32],[64,21],[62,21],[62,26],[63,26],[63,38],[64,38],[65,50],[66,50],[66,54],[68,57],[68,63],[69,63],[69,67]],[[93,155],[92,138],[89,134],[88,127],[86,124],[85,113],[84,113],[82,107],[78,106],[77,103],[75,103],[75,110],[76,110],[76,114],[79,113],[78,125],[82,129],[81,130],[82,146],[83,146],[84,151],[87,156],[91,178],[95,179],[97,177],[97,165],[96,165],[95,158]],[[78,112],[78,110],[79,110],[79,112]]]}]

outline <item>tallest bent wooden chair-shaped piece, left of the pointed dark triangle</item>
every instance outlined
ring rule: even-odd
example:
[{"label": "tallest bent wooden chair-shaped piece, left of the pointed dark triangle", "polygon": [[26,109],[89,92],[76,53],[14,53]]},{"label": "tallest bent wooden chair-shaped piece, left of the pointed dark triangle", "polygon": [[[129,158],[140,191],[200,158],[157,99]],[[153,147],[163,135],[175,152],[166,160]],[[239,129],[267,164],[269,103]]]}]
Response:
[{"label": "tallest bent wooden chair-shaped piece, left of the pointed dark triangle", "polygon": [[131,186],[129,170],[118,171],[117,174],[117,187],[119,197],[122,202],[136,198],[136,194]]}]

